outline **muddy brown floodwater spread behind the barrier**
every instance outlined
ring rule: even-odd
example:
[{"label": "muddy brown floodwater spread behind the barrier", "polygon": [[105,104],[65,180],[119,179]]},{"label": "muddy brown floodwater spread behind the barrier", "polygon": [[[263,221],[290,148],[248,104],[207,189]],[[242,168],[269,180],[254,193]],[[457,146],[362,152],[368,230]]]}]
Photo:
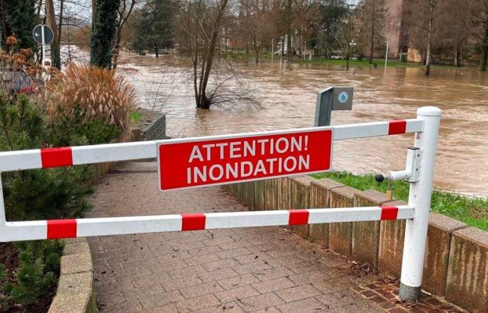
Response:
[{"label": "muddy brown floodwater spread behind the barrier", "polygon": [[[195,108],[188,68],[174,58],[128,56],[136,69],[130,80],[141,106],[167,114],[169,136],[203,136],[245,131],[310,127],[317,91],[353,86],[352,111],[333,112],[332,124],[414,118],[420,106],[442,109],[436,188],[488,195],[488,73],[471,69],[344,67],[266,62],[238,70],[244,90],[252,90],[259,107]],[[333,168],[355,173],[404,168],[413,136],[399,135],[341,141],[334,145]]]}]

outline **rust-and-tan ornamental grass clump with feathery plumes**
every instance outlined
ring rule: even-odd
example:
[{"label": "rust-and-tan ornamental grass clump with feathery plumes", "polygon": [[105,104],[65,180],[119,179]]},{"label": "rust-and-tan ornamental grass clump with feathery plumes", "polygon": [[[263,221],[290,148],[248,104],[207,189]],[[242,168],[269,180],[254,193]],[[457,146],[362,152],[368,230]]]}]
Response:
[{"label": "rust-and-tan ornamental grass clump with feathery plumes", "polygon": [[60,72],[48,87],[49,120],[77,118],[82,121],[104,119],[128,133],[129,114],[135,107],[134,88],[112,70],[100,67],[70,65]]}]

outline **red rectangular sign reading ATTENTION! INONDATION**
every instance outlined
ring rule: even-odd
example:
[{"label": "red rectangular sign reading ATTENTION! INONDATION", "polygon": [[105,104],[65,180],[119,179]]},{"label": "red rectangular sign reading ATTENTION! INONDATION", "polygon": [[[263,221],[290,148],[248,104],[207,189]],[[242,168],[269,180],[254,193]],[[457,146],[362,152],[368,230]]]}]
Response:
[{"label": "red rectangular sign reading ATTENTION! INONDATION", "polygon": [[333,129],[160,141],[160,190],[245,182],[330,170]]}]

